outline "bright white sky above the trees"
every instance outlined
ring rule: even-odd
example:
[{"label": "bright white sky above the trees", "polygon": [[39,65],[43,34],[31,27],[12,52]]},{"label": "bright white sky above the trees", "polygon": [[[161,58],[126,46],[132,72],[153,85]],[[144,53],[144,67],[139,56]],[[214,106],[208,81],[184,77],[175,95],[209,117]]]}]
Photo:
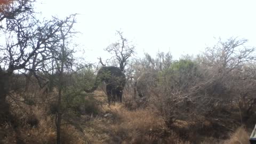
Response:
[{"label": "bright white sky above the trees", "polygon": [[73,41],[84,49],[87,61],[109,58],[108,45],[123,31],[136,47],[134,57],[170,51],[174,59],[198,54],[220,37],[249,39],[256,46],[256,1],[144,1],[144,0],[41,0],[36,5],[44,17],[78,13],[74,26],[81,34]]}]

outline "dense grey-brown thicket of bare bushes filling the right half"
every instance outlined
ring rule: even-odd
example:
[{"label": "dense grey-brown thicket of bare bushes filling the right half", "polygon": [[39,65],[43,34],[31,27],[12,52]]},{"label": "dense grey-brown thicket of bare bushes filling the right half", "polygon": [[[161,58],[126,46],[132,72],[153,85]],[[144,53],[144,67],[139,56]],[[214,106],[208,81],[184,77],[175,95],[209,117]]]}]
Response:
[{"label": "dense grey-brown thicket of bare bushes filling the right half", "polygon": [[[158,53],[156,58],[146,54],[135,60],[134,75],[147,91],[143,105],[157,109],[169,127],[180,119],[202,123],[207,119],[222,131],[232,129],[230,121],[253,125],[255,49],[246,42],[220,39],[196,58],[185,55],[172,60],[168,53]],[[148,76],[141,79],[143,73]]]}]

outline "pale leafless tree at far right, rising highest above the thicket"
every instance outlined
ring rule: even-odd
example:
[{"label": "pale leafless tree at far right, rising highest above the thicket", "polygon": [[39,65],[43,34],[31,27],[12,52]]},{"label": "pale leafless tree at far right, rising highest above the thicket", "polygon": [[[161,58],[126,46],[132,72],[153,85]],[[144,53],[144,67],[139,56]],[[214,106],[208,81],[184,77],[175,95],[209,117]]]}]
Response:
[{"label": "pale leafless tree at far right, rising highest above the thicket", "polygon": [[246,39],[231,37],[227,41],[219,39],[215,46],[206,48],[198,60],[205,69],[205,80],[190,90],[198,95],[196,103],[208,103],[201,106],[209,109],[235,101],[242,111],[247,111],[244,116],[252,114],[256,104],[253,98],[255,80],[249,71],[255,62],[255,47],[246,46],[246,42]]}]

